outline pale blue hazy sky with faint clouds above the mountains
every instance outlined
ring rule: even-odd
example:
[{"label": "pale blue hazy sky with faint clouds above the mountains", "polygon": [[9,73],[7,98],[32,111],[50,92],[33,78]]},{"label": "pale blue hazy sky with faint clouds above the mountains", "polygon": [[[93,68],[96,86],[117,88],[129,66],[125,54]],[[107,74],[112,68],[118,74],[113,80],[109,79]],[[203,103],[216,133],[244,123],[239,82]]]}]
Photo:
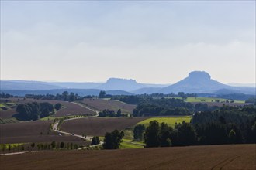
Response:
[{"label": "pale blue hazy sky with faint clouds above the mountains", "polygon": [[1,80],[255,82],[255,1],[1,1]]}]

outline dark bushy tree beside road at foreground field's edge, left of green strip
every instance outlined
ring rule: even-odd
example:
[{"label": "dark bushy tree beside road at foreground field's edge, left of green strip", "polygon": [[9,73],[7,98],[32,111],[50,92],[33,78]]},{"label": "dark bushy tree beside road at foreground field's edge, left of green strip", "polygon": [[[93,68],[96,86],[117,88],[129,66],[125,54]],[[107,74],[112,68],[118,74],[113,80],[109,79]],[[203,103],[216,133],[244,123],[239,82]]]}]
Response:
[{"label": "dark bushy tree beside road at foreground field's edge, left of green strip", "polygon": [[121,145],[123,136],[123,131],[114,130],[111,133],[107,132],[105,134],[103,148],[118,149]]}]

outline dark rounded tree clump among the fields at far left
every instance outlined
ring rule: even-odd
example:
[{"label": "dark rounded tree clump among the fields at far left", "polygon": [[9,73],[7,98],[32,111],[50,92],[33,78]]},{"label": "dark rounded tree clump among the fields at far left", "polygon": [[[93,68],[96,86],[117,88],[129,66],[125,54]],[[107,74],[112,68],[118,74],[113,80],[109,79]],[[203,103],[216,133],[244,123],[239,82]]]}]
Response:
[{"label": "dark rounded tree clump among the fields at far left", "polygon": [[16,112],[18,112],[18,114],[15,114],[13,117],[16,117],[18,120],[36,121],[39,118],[54,114],[54,106],[47,102],[19,104],[16,108]]}]

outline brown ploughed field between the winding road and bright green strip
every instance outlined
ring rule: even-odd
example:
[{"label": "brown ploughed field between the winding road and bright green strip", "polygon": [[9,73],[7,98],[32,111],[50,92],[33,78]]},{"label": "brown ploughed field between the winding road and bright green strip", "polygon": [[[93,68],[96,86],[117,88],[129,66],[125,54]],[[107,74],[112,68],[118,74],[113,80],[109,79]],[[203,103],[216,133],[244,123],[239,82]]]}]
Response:
[{"label": "brown ploughed field between the winding road and bright green strip", "polygon": [[144,121],[149,117],[91,117],[65,121],[61,125],[62,131],[74,134],[87,134],[103,136],[106,132],[115,129],[123,130],[130,128],[140,121]]}]

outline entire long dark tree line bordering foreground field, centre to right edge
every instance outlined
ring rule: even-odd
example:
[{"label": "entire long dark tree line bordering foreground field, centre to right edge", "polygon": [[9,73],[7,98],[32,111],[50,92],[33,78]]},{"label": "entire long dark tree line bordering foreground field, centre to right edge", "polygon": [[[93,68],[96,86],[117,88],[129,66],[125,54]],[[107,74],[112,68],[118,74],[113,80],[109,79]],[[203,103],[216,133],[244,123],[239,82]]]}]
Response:
[{"label": "entire long dark tree line bordering foreground field, centre to right edge", "polygon": [[221,107],[197,113],[191,123],[183,121],[175,128],[150,121],[147,128],[138,124],[133,134],[146,147],[256,143],[256,108]]}]

